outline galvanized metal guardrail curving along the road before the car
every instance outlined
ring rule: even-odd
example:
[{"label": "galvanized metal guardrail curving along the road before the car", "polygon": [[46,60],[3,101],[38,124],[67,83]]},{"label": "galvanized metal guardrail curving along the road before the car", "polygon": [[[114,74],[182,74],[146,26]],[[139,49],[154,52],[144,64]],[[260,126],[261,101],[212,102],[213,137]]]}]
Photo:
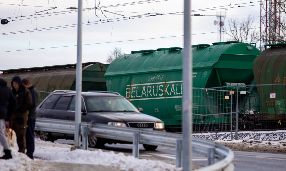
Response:
[{"label": "galvanized metal guardrail curving along the road before the car", "polygon": [[[75,122],[37,118],[35,130],[74,134]],[[91,134],[106,139],[133,142],[132,153],[134,157],[138,157],[139,155],[139,144],[175,147],[176,167],[182,166],[182,134],[89,122],[81,122],[81,134],[83,135],[83,149],[87,149],[87,137]],[[208,166],[199,169],[200,171],[234,170],[234,164],[232,163],[234,153],[229,148],[195,137],[192,137],[192,146],[194,152],[208,156]],[[214,159],[218,159],[219,161],[214,163]]]}]

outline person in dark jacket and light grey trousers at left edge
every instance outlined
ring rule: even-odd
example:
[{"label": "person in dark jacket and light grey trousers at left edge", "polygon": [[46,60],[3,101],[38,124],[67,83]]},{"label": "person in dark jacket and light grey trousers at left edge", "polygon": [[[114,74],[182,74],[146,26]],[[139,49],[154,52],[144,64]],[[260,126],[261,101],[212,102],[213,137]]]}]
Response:
[{"label": "person in dark jacket and light grey trousers at left edge", "polygon": [[10,120],[12,113],[17,105],[16,98],[13,96],[10,88],[7,86],[7,82],[0,79],[0,143],[4,148],[4,156],[0,159],[11,159],[11,150],[7,139],[3,133],[4,120]]}]

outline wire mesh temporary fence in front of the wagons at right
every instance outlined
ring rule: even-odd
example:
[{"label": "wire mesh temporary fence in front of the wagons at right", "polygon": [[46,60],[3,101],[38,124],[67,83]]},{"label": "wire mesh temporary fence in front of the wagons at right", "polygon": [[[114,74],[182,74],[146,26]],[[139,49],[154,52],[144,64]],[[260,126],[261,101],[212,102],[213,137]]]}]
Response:
[{"label": "wire mesh temporary fence in front of the wagons at right", "polygon": [[286,128],[285,84],[225,85],[193,88],[194,132]]}]

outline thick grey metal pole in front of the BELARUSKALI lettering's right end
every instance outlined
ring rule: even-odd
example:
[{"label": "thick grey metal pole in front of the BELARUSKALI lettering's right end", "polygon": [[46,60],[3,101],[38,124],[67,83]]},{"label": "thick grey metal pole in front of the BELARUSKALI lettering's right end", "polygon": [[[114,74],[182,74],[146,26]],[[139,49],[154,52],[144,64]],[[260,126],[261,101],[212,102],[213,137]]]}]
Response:
[{"label": "thick grey metal pole in front of the BELARUSKALI lettering's right end", "polygon": [[193,58],[191,50],[191,2],[184,3],[184,53],[183,53],[183,170],[192,170],[192,67]]}]

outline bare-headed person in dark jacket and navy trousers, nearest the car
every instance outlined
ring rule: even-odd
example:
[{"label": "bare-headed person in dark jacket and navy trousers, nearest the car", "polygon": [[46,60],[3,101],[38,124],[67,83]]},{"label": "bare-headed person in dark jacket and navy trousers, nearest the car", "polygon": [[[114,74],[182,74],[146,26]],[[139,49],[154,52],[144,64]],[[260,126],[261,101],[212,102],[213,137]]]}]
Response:
[{"label": "bare-headed person in dark jacket and navy trousers, nearest the car", "polygon": [[36,122],[36,108],[38,106],[39,95],[37,89],[28,79],[22,80],[23,85],[29,89],[32,94],[32,101],[33,106],[29,109],[28,114],[28,123],[27,123],[27,131],[26,131],[26,148],[27,148],[27,156],[31,159],[34,159],[33,153],[35,150],[35,139],[34,139],[34,129],[35,129],[35,122]]}]

